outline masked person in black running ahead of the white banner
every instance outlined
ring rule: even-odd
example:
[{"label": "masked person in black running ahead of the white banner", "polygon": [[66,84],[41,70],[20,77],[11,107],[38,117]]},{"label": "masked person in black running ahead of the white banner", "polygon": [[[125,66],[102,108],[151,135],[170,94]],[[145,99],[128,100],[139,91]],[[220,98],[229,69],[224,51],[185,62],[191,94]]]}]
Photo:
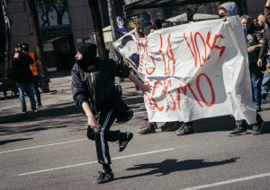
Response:
[{"label": "masked person in black running ahead of the white banner", "polygon": [[95,142],[97,160],[103,165],[95,182],[103,184],[114,177],[108,142],[118,142],[119,151],[123,151],[133,137],[129,132],[110,130],[115,119],[127,122],[133,116],[121,99],[121,88],[115,86],[114,78],[129,78],[143,92],[148,91],[148,86],[139,82],[127,65],[96,57],[96,45],[92,43],[83,44],[75,57],[76,65],[71,71],[73,99],[87,117],[87,137]]}]

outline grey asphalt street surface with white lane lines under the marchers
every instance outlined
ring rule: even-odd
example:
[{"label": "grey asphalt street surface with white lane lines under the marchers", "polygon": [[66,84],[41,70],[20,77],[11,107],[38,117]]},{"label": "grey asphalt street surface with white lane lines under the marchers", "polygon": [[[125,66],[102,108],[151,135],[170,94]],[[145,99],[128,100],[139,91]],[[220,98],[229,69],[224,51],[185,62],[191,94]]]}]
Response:
[{"label": "grey asphalt street surface with white lane lines under the marchers", "polygon": [[115,180],[96,185],[101,166],[85,136],[86,118],[74,106],[71,77],[58,73],[50,81],[38,113],[22,115],[18,98],[0,100],[0,189],[270,189],[270,103],[260,112],[266,121],[261,135],[229,137],[229,116],[195,121],[195,134],[186,136],[160,128],[140,135],[142,94],[121,82],[134,117],[112,129],[134,137],[122,152],[109,144]]}]

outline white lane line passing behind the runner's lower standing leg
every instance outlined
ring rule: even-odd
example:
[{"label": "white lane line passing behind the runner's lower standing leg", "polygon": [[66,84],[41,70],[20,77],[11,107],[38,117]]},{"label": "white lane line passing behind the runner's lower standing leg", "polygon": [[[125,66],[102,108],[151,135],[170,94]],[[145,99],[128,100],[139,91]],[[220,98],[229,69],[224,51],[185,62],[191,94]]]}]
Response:
[{"label": "white lane line passing behind the runner's lower standing leg", "polygon": [[[173,150],[175,150],[175,149],[170,148],[170,149],[163,149],[163,150],[159,150],[159,151],[147,151],[147,152],[142,152],[142,153],[137,153],[137,154],[130,154],[128,156],[116,157],[116,158],[113,158],[112,160],[121,160],[121,159],[130,158],[130,157],[154,154],[154,153],[158,153],[158,152],[162,152],[162,151],[173,151]],[[94,164],[94,163],[97,163],[97,161],[89,161],[89,162],[85,162],[85,163],[74,164],[74,165],[69,165],[69,166],[64,166],[64,167],[48,168],[48,169],[42,169],[42,170],[38,170],[38,171],[31,171],[31,172],[27,172],[27,173],[23,173],[23,174],[17,174],[15,176],[27,176],[27,175],[37,174],[37,173],[42,173],[42,172],[47,172],[47,171],[54,171],[54,170],[58,170],[58,169],[62,169],[62,168],[73,168],[73,167],[85,166],[85,165]]]}]

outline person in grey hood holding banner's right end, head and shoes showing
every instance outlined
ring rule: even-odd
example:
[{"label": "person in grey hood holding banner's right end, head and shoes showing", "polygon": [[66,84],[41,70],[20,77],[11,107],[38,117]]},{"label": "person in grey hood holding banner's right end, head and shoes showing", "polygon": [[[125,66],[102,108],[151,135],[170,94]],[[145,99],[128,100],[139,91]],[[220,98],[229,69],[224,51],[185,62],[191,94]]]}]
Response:
[{"label": "person in grey hood holding banner's right end, head and shoes showing", "polygon": [[[270,0],[267,0],[270,5]],[[219,7],[219,16],[222,18],[223,22],[227,21],[229,16],[238,15],[238,6],[234,2],[229,2],[225,4],[221,4]],[[247,133],[247,122],[245,119],[237,120],[235,123],[236,127],[233,131],[229,132],[229,136],[237,136],[241,134]],[[264,120],[260,115],[257,114],[257,123],[252,126],[252,134],[261,134],[264,125]]]}]

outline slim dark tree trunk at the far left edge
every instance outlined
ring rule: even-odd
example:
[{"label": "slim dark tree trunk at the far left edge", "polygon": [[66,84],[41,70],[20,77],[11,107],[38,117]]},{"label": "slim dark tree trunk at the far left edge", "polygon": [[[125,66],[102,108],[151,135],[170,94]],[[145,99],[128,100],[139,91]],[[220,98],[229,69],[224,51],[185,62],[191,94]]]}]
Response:
[{"label": "slim dark tree trunk at the far left edge", "polygon": [[[10,33],[10,23],[7,17],[7,5],[3,0],[0,0],[0,12],[3,14],[4,18],[4,37],[5,37],[5,57],[4,57],[4,77],[7,75],[7,70],[12,66],[11,62],[11,33]],[[4,6],[4,9],[3,9]]]}]

